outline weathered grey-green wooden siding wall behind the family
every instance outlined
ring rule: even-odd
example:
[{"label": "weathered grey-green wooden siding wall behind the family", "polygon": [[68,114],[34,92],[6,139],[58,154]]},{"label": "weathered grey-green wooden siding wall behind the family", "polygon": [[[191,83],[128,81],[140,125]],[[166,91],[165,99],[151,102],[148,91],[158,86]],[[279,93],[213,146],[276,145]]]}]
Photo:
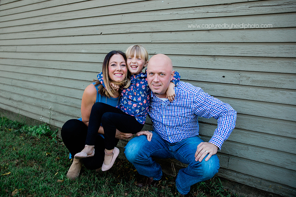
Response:
[{"label": "weathered grey-green wooden siding wall behind the family", "polygon": [[[105,54],[139,43],[150,57],[169,55],[181,80],[238,112],[218,153],[219,175],[292,196],[295,11],[295,0],[1,0],[0,108],[61,127],[80,117]],[[189,28],[224,23],[272,28]],[[217,121],[199,121],[208,140]]]}]

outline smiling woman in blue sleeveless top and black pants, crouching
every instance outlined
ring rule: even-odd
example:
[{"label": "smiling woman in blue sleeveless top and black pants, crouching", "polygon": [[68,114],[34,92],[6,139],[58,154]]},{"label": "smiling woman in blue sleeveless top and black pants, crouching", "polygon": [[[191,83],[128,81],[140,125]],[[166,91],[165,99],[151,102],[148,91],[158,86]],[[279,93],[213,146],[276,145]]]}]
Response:
[{"label": "smiling woman in blue sleeveless top and black pants, crouching", "polygon": [[[110,83],[112,82],[119,86],[129,84],[128,80],[130,80],[130,77],[127,75],[126,58],[123,52],[111,51],[106,55],[103,62],[103,78],[105,88],[99,81],[95,81],[85,88],[81,101],[82,118],[68,120],[62,127],[61,136],[63,142],[73,158],[73,163],[67,173],[69,179],[75,179],[79,176],[82,162],[84,166],[90,170],[102,167],[105,156],[104,138],[103,135],[100,135],[104,134],[102,126],[99,128],[99,135],[96,136],[96,153],[94,156],[84,159],[75,159],[74,155],[84,148],[89,116],[93,104],[101,102],[114,107],[120,104],[120,93],[118,90],[113,90]],[[128,139],[131,136],[132,134],[116,131],[116,143],[118,143],[118,139]]]}]

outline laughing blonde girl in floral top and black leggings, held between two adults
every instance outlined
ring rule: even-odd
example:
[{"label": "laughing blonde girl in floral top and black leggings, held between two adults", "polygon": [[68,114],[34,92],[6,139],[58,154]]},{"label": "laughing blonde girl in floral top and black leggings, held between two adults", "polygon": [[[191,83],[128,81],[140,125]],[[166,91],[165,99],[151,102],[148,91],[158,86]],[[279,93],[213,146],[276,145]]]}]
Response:
[{"label": "laughing blonde girl in floral top and black leggings, held between two adults", "polygon": [[[116,157],[119,149],[114,148],[116,129],[123,133],[135,134],[142,130],[149,109],[150,88],[147,82],[147,74],[143,73],[143,68],[148,64],[148,52],[143,46],[134,45],[126,50],[127,65],[131,73],[130,85],[121,91],[120,108],[109,106],[105,103],[95,103],[89,117],[88,134],[85,141],[84,149],[75,155],[76,159],[90,157],[94,155],[94,139],[97,135],[98,128],[102,124],[104,127],[105,137],[105,160],[102,171],[109,170]],[[102,74],[98,75],[99,81],[104,86]],[[174,78],[168,91],[175,94],[174,86],[180,80],[180,75],[175,72]],[[171,98],[170,97],[170,98]],[[141,131],[137,135],[147,135],[150,141],[152,133]]]}]

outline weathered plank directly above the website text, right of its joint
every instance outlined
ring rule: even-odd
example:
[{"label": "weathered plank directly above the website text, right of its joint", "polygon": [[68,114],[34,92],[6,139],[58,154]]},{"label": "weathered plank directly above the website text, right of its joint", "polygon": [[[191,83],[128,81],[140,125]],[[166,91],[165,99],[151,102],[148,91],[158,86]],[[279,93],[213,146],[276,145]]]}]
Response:
[{"label": "weathered plank directly above the website text, right of its joint", "polygon": [[[140,13],[127,13],[122,15],[121,22],[139,22],[139,20],[178,20],[183,18],[219,18],[231,16],[248,16],[260,14],[274,14],[294,12],[293,1],[253,1],[219,4],[215,6],[196,6],[190,8],[176,8],[169,10],[143,11]],[[205,11],[206,10],[206,11]],[[138,17],[135,17],[138,14]],[[217,24],[217,23],[207,23]],[[224,24],[224,23],[222,23]]]}]

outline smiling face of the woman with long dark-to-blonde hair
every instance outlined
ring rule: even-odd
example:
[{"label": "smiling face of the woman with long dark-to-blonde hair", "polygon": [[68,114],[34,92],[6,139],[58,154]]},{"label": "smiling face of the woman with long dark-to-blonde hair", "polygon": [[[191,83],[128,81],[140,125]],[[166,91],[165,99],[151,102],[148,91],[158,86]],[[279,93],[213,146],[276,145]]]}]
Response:
[{"label": "smiling face of the woman with long dark-to-blonde hair", "polygon": [[114,54],[108,63],[108,75],[112,81],[122,81],[126,76],[126,64],[121,54]]}]

